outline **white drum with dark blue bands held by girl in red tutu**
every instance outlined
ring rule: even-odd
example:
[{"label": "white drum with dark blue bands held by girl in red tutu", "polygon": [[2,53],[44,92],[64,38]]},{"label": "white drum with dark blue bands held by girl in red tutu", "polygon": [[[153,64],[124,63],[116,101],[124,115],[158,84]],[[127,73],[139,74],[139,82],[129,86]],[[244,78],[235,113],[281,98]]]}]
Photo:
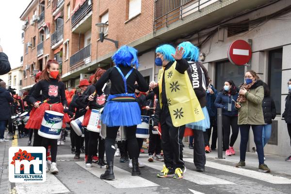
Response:
[{"label": "white drum with dark blue bands held by girl in red tutu", "polygon": [[46,110],[38,134],[49,139],[59,139],[63,126],[64,114]]}]

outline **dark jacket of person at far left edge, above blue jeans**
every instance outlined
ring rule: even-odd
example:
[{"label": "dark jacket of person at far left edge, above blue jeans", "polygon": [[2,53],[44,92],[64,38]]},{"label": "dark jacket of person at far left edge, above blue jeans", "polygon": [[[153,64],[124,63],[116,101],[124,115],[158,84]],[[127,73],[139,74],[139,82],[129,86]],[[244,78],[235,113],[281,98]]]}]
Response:
[{"label": "dark jacket of person at far left edge, above blue jeans", "polygon": [[0,87],[0,120],[8,120],[11,118],[11,105],[13,98],[9,91]]}]

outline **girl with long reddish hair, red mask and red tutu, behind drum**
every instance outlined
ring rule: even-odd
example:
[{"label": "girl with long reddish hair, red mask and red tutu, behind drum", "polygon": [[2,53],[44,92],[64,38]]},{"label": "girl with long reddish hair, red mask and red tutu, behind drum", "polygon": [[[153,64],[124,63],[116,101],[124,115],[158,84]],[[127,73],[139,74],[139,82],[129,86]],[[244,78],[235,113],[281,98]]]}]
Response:
[{"label": "girl with long reddish hair, red mask and red tutu, behind drum", "polygon": [[[49,99],[47,103],[39,105],[37,97],[42,91],[42,101]],[[65,123],[70,121],[68,114],[64,113],[67,111],[67,101],[65,99],[65,84],[61,81],[61,75],[59,75],[59,63],[55,60],[49,60],[45,69],[42,71],[41,80],[36,84],[35,89],[32,92],[30,101],[36,108],[30,121],[26,127],[29,129],[40,129],[41,122],[44,117],[46,110],[52,110],[64,114],[63,117],[63,128]],[[48,151],[50,145],[51,152],[51,166],[50,173],[58,173],[59,170],[56,164],[57,157],[57,146],[58,139],[49,139],[42,137],[41,145]],[[49,167],[47,165],[47,172]]]}]

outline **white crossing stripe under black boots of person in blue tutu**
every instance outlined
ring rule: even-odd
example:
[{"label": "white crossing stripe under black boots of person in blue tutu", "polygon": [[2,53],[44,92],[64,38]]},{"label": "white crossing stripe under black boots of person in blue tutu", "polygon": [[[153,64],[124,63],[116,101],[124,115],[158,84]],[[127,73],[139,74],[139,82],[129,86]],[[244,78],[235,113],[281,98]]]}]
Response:
[{"label": "white crossing stripe under black boots of person in blue tutu", "polygon": [[[80,165],[82,168],[87,170],[88,172],[95,175],[97,178],[100,177],[101,174],[105,172],[104,168],[99,168],[93,166],[91,168],[86,168],[84,162],[76,162],[76,164]],[[113,186],[116,189],[126,189],[126,188],[138,188],[138,187],[156,187],[160,186],[154,182],[151,182],[147,179],[144,179],[139,176],[131,176],[131,173],[114,166],[114,181],[112,180],[103,180]]]}]

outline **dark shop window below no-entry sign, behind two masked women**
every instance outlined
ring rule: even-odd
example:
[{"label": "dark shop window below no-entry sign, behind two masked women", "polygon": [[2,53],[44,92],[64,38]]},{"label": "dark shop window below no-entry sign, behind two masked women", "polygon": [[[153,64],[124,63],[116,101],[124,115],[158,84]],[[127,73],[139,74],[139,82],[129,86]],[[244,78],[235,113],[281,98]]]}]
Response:
[{"label": "dark shop window below no-entry sign, behind two masked women", "polygon": [[231,79],[238,87],[243,83],[244,66],[236,66],[229,60],[216,62],[215,89],[220,91],[226,80]]}]

